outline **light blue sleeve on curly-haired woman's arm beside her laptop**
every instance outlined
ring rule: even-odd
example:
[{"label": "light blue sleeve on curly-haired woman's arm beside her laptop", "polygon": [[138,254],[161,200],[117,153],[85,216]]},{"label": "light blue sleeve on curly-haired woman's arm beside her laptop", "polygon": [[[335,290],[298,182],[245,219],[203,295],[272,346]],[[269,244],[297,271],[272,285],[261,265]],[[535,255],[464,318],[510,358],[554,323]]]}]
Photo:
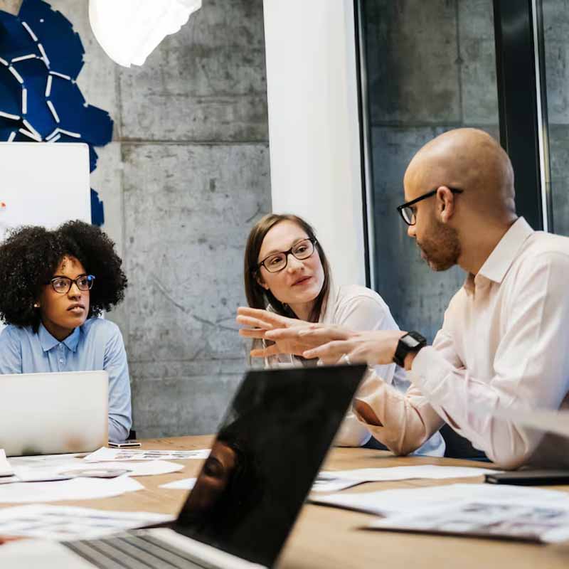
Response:
[{"label": "light blue sleeve on curly-haired woman's arm beside her laptop", "polygon": [[118,327],[105,346],[103,369],[109,374],[109,440],[127,439],[132,426],[129,366]]}]

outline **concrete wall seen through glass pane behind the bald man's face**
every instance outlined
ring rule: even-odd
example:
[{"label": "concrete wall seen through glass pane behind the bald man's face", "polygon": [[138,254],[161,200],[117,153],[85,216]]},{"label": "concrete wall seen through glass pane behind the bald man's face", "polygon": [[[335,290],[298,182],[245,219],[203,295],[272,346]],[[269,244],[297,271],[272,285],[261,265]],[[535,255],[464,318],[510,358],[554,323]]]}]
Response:
[{"label": "concrete wall seen through glass pane behind the bald man's face", "polygon": [[[364,0],[378,292],[403,329],[432,339],[458,268],[434,273],[395,208],[420,147],[457,127],[499,137],[491,0]],[[430,188],[425,188],[425,191]]]}]

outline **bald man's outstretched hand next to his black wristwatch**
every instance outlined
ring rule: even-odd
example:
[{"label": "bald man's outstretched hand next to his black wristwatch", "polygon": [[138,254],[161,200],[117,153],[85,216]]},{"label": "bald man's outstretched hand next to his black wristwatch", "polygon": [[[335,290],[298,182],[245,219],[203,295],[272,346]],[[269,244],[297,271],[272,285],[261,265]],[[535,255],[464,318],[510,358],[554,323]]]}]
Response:
[{"label": "bald man's outstretched hand next to his black wristwatch", "polygon": [[369,366],[393,363],[399,339],[405,334],[400,330],[380,330],[330,339],[321,329],[313,329],[312,326],[299,331],[299,336],[307,343],[323,344],[305,351],[302,354],[305,358],[320,358],[325,363],[336,363],[341,358],[346,360],[347,356],[350,363],[367,363]]}]

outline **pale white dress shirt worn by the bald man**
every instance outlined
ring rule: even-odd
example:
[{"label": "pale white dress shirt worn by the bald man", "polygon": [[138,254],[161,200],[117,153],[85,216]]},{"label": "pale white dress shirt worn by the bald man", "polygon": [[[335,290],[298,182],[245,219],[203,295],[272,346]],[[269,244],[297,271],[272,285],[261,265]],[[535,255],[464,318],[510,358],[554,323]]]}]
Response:
[{"label": "pale white dress shirt worn by the bald man", "polygon": [[445,420],[503,468],[568,465],[568,440],[479,412],[569,407],[568,277],[569,238],[519,218],[452,298],[406,395],[378,378],[363,385],[357,397],[381,422],[373,435],[406,454]]}]

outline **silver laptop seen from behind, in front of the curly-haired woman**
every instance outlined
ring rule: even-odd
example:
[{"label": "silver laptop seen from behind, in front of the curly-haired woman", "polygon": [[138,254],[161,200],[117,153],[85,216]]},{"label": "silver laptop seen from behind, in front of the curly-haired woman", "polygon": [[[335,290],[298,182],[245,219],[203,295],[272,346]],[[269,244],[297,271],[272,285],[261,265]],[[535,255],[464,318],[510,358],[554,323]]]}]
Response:
[{"label": "silver laptop seen from behind, in front of the curly-haired woman", "polygon": [[9,457],[107,444],[106,371],[0,375],[0,448]]}]

